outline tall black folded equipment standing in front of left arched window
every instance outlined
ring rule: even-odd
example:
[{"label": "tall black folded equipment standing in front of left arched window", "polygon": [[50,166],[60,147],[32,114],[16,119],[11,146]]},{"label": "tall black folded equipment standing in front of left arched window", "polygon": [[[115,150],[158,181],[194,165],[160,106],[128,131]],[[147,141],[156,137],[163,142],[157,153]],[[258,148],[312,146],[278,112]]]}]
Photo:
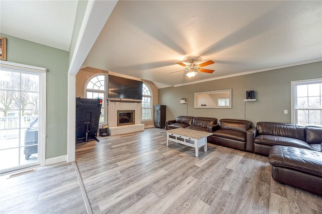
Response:
[{"label": "tall black folded equipment standing in front of left arched window", "polygon": [[76,97],[76,143],[97,140],[101,107],[100,98],[89,99]]}]

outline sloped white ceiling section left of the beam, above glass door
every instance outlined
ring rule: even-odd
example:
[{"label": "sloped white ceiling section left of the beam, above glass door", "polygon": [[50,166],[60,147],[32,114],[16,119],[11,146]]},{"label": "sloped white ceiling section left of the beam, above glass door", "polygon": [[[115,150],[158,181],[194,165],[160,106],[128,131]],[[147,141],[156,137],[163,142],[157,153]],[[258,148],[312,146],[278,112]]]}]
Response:
[{"label": "sloped white ceiling section left of the beam, above glass door", "polygon": [[0,0],[0,32],[69,51],[77,1]]}]

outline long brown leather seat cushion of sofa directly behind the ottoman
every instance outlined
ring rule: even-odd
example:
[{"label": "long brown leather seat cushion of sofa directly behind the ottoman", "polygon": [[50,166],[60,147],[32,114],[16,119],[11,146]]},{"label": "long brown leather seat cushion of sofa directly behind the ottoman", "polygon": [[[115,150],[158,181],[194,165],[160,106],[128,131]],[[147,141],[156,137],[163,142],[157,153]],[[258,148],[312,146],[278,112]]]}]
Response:
[{"label": "long brown leather seat cushion of sofa directly behind the ottoman", "polygon": [[307,143],[305,143],[304,141],[301,141],[295,138],[288,138],[288,137],[281,137],[281,136],[274,136],[274,135],[259,135],[255,137],[254,143],[265,144],[270,146],[276,146],[276,145],[293,146],[293,147],[312,150],[312,147]]}]

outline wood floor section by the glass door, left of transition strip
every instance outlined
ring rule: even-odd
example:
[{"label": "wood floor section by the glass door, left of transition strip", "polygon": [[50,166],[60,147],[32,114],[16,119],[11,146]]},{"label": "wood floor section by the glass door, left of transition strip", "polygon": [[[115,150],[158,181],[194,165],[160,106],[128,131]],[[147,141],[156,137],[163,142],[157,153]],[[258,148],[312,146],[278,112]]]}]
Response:
[{"label": "wood floor section by the glass door, left of transition strip", "polygon": [[37,167],[36,172],[7,179],[8,176],[0,177],[0,213],[86,213],[72,163]]}]

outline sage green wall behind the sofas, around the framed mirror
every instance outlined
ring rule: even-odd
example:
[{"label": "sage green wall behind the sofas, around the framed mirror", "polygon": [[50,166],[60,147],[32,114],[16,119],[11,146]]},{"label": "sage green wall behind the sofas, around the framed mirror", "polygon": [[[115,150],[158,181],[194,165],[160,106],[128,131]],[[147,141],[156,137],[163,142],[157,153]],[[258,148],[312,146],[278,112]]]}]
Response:
[{"label": "sage green wall behind the sofas, around the framed mirror", "polygon": [[[259,121],[291,122],[291,81],[322,77],[322,62],[281,68],[243,76],[218,79],[180,87],[159,89],[159,103],[167,105],[167,120],[179,115],[245,119],[253,126]],[[195,109],[194,93],[232,89],[232,109]],[[255,90],[257,101],[246,102],[246,91]],[[180,104],[185,97],[188,104]],[[245,105],[246,104],[246,105]],[[288,114],[284,114],[288,110]]]}]

